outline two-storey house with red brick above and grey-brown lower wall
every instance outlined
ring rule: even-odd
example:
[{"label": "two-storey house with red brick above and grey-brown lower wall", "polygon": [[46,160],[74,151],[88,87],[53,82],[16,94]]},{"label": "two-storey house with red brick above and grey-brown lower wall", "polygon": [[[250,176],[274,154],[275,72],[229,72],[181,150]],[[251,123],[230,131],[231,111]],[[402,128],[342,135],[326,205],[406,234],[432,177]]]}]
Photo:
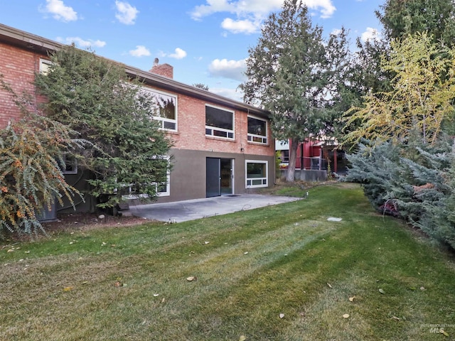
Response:
[{"label": "two-storey house with red brick above and grey-brown lower wall", "polygon": [[[48,65],[48,52],[63,45],[0,24],[0,75],[16,93],[32,94],[33,79]],[[274,139],[269,114],[172,79],[173,67],[155,60],[150,71],[123,65],[132,77],[144,81],[144,91],[156,98],[163,112],[162,129],[173,141],[169,157],[173,164],[166,186],[159,188],[158,202],[189,200],[217,195],[240,195],[252,188],[273,185]],[[0,90],[0,128],[20,112],[6,92]],[[65,170],[68,183],[84,189],[75,165]],[[90,210],[92,202],[78,203],[77,210]]]}]

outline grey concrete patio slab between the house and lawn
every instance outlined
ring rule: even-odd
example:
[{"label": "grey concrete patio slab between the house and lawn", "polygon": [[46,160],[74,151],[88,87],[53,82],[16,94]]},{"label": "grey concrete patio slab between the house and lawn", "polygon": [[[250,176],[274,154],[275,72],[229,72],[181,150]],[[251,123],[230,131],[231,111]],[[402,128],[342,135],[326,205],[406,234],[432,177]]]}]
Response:
[{"label": "grey concrete patio slab between the house and lawn", "polygon": [[203,199],[166,202],[160,204],[131,205],[129,212],[137,217],[144,217],[161,222],[185,222],[215,215],[226,215],[242,210],[282,204],[300,200],[299,197],[280,197],[274,195],[245,194]]}]

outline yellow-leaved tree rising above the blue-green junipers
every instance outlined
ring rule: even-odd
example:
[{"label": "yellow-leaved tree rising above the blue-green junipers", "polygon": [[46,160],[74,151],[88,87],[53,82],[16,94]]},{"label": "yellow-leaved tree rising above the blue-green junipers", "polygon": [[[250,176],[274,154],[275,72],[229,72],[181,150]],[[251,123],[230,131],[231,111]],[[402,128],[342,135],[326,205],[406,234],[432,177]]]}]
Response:
[{"label": "yellow-leaved tree rising above the blue-green junipers", "polygon": [[365,138],[405,143],[418,131],[423,144],[433,144],[444,121],[454,118],[454,66],[454,50],[437,48],[427,33],[393,40],[390,56],[382,64],[395,74],[392,90],[369,92],[363,107],[347,112],[347,126],[358,126],[345,141]]}]

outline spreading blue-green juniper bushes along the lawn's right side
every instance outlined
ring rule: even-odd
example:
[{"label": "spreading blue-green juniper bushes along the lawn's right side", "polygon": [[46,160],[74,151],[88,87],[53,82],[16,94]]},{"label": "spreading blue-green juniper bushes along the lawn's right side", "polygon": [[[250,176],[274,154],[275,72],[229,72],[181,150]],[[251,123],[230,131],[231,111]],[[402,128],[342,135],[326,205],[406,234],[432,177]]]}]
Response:
[{"label": "spreading blue-green juniper bushes along the lawn's right side", "polygon": [[455,145],[415,146],[364,141],[348,155],[347,181],[360,183],[380,212],[407,220],[455,249]]}]

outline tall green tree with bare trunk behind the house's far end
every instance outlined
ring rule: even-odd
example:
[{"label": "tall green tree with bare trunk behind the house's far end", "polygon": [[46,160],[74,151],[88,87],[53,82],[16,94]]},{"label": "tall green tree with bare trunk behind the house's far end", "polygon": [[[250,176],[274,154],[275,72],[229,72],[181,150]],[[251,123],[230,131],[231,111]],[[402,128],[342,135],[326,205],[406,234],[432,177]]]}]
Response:
[{"label": "tall green tree with bare trunk behind the house's far end", "polygon": [[[305,139],[333,130],[333,104],[348,56],[346,32],[322,36],[301,0],[284,1],[249,50],[244,100],[271,112],[272,132],[291,141],[287,180],[294,180],[296,150]],[[338,113],[340,114],[340,113]]]}]

